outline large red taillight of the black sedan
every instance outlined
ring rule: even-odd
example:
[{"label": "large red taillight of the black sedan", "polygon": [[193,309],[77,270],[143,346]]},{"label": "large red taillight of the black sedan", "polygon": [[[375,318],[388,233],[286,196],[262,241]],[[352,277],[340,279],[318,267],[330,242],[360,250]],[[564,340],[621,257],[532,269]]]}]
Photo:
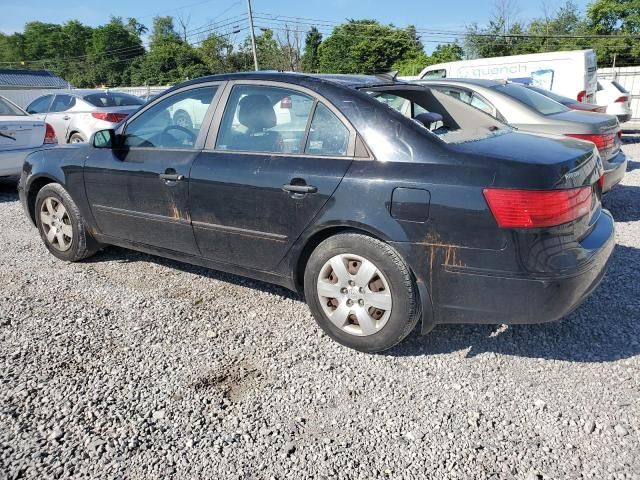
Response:
[{"label": "large red taillight of the black sedan", "polygon": [[589,213],[591,187],[567,190],[508,190],[485,188],[498,226],[502,228],[552,227]]}]

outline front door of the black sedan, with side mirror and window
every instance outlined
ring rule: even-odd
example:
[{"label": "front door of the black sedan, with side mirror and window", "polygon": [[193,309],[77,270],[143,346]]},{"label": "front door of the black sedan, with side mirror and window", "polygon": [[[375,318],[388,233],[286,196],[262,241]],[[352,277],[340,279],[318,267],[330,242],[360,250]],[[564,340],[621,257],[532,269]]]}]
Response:
[{"label": "front door of the black sedan, with side mirror and window", "polygon": [[[189,172],[204,145],[217,91],[218,84],[178,90],[134,115],[119,147],[92,151],[85,186],[104,235],[198,253],[189,213]],[[175,118],[185,110],[189,126]]]}]

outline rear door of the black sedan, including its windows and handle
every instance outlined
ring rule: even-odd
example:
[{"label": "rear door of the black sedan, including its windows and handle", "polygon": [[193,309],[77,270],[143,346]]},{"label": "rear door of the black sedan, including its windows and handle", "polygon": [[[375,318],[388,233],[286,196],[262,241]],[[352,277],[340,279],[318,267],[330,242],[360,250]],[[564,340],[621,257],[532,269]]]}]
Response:
[{"label": "rear door of the black sedan, including its windows and handle", "polygon": [[230,84],[216,127],[191,170],[196,241],[206,258],[273,270],[342,180],[355,131],[315,93],[276,82]]}]

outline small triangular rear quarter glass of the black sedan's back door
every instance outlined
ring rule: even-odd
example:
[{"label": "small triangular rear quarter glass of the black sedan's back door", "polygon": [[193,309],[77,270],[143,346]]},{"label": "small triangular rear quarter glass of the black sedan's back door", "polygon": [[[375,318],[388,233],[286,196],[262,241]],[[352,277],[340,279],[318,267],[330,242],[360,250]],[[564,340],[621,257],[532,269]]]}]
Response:
[{"label": "small triangular rear quarter glass of the black sedan's back door", "polygon": [[349,148],[349,130],[334,113],[318,103],[313,114],[304,153],[345,156]]}]

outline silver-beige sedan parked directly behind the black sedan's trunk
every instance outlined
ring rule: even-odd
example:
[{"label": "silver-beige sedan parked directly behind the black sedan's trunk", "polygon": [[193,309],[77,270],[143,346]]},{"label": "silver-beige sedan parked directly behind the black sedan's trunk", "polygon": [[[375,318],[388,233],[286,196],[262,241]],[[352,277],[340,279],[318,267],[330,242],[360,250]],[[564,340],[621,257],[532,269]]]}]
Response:
[{"label": "silver-beige sedan parked directly behind the black sedan's trunk", "polygon": [[594,143],[604,164],[603,192],[624,177],[627,158],[620,146],[622,130],[612,115],[571,110],[524,85],[500,80],[417,80],[468,103],[519,130],[564,135]]}]

